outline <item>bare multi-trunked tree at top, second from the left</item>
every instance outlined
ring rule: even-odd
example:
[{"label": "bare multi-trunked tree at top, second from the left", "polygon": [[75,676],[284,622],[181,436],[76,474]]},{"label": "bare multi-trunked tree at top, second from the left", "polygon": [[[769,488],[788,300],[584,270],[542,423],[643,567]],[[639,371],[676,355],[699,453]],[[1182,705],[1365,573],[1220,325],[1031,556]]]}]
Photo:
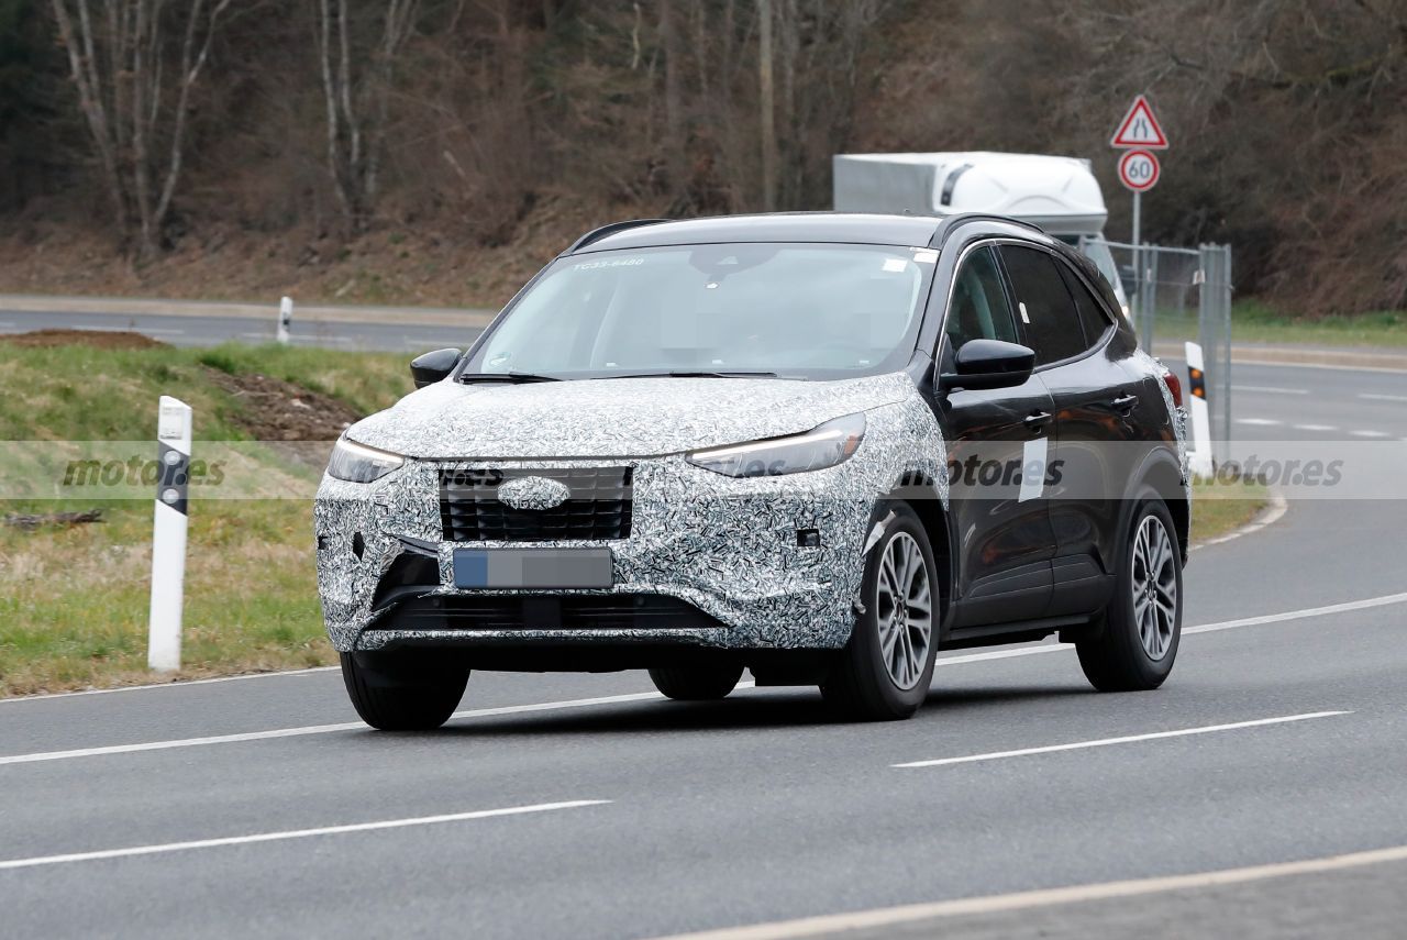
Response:
[{"label": "bare multi-trunked tree at top, second from the left", "polygon": [[[370,51],[348,0],[318,0],[318,65],[328,122],[328,172],[348,227],[366,228],[380,193],[381,158],[395,65],[419,0],[387,0]],[[367,42],[371,44],[371,42]],[[362,63],[366,62],[366,68]]]}]

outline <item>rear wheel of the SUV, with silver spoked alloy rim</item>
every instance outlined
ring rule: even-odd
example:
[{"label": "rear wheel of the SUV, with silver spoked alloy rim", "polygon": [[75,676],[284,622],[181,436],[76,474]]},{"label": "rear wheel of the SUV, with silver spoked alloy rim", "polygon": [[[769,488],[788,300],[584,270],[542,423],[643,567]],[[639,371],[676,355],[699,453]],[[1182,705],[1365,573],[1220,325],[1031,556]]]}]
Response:
[{"label": "rear wheel of the SUV, with silver spoked alloy rim", "polygon": [[1166,504],[1148,494],[1124,539],[1114,597],[1102,629],[1075,643],[1079,666],[1102,692],[1158,688],[1182,637],[1182,552]]}]

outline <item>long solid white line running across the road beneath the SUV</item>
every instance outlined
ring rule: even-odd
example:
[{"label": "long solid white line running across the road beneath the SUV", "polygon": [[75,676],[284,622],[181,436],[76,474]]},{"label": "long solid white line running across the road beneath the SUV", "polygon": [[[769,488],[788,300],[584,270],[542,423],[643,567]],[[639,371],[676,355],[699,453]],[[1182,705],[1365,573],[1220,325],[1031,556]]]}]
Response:
[{"label": "long solid white line running across the road beneath the SUV", "polygon": [[[1407,602],[1407,591],[1401,594],[1384,594],[1382,597],[1363,598],[1361,601],[1346,601],[1344,604],[1330,604],[1327,606],[1311,606],[1299,611],[1286,611],[1283,614],[1266,614],[1263,616],[1247,616],[1238,621],[1220,621],[1216,623],[1202,623],[1199,626],[1183,628],[1183,636],[1193,633],[1214,633],[1217,630],[1231,630],[1242,626],[1262,626],[1265,623],[1285,623],[1289,621],[1301,621],[1313,616],[1325,616],[1330,614],[1346,614],[1349,611],[1365,611],[1375,606],[1387,606],[1392,604]],[[1045,643],[1043,646],[1017,646],[1014,649],[1006,650],[991,650],[986,653],[967,653],[962,656],[940,656],[937,660],[938,666],[961,666],[962,663],[985,663],[988,660],[1005,660],[1016,659],[1021,656],[1040,656],[1044,653],[1068,653],[1075,647],[1069,643]],[[235,677],[231,677],[235,678]],[[253,678],[253,677],[250,677]],[[221,681],[221,680],[211,680]],[[737,688],[753,688],[754,682],[751,680],[737,684]],[[149,687],[149,688],[177,688],[177,685],[170,687]],[[117,691],[117,690],[113,690]],[[530,705],[502,705],[498,708],[478,708],[464,712],[454,712],[450,718],[492,718],[497,715],[521,715],[528,712],[550,712],[557,709],[568,708],[591,708],[594,705],[616,705],[622,702],[646,702],[653,699],[663,699],[664,697],[658,692],[632,692],[626,695],[604,695],[599,698],[577,698],[560,702],[535,702]],[[35,699],[15,699],[15,701],[35,701]],[[0,757],[0,766],[4,764],[32,764],[51,760],[69,760],[73,757],[98,757],[104,754],[127,754],[135,751],[151,751],[151,750],[167,750],[172,747],[197,747],[204,744],[229,744],[239,742],[253,742],[266,740],[274,737],[301,737],[305,735],[328,735],[333,732],[346,730],[366,730],[366,725],[362,722],[342,722],[338,725],[308,725],[303,728],[280,728],[266,732],[246,732],[241,735],[217,735],[211,737],[184,737],[177,740],[163,740],[163,742],[144,742],[139,744],[113,744],[107,747],[83,747],[77,750],[61,750],[61,751],[39,751],[34,754],[11,754],[8,757]]]}]

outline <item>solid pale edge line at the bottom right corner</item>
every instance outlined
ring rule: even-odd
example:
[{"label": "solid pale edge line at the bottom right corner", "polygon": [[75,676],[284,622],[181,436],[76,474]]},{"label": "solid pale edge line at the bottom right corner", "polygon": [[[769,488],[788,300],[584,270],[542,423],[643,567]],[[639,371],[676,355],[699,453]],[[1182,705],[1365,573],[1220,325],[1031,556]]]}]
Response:
[{"label": "solid pale edge line at the bottom right corner", "polygon": [[[1247,865],[1245,868],[1199,871],[1188,875],[1104,881],[1092,885],[1043,888],[1040,891],[1019,891],[1005,895],[986,895],[983,898],[955,898],[953,901],[931,901],[927,903],[910,903],[898,908],[877,908],[872,910],[854,910],[850,913],[830,913],[816,917],[799,917],[796,920],[775,920],[772,923],[677,934],[668,940],[796,940],[798,937],[829,936],[846,930],[878,930],[882,927],[893,927],[920,920],[937,920],[940,917],[1006,913],[1012,910],[1052,908],[1057,905],[1089,901],[1109,901],[1113,898],[1138,898],[1142,895],[1168,894],[1173,891],[1196,891],[1199,888],[1240,885],[1254,881],[1268,881],[1271,878],[1287,878],[1292,875],[1323,875],[1331,871],[1348,871],[1352,868],[1362,868],[1365,865],[1379,865],[1396,861],[1407,861],[1407,846],[1375,849],[1372,851],[1355,851],[1345,856],[1306,858],[1303,861],[1279,861],[1268,865]],[[931,936],[940,936],[940,933],[941,930],[936,929],[931,932]]]}]

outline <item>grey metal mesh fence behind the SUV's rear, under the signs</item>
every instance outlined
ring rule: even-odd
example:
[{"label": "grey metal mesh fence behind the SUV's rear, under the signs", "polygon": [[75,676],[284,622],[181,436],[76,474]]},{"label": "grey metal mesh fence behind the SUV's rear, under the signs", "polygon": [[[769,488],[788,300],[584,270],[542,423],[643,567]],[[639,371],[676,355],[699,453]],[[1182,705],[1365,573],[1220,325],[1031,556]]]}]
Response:
[{"label": "grey metal mesh fence behind the SUV's rear, under the signs", "polygon": [[[1182,362],[1183,343],[1202,346],[1211,459],[1220,464],[1231,439],[1231,246],[1092,245],[1107,249],[1100,269],[1106,277],[1112,272],[1119,277],[1144,349]],[[1182,380],[1189,388],[1185,370]]]}]

